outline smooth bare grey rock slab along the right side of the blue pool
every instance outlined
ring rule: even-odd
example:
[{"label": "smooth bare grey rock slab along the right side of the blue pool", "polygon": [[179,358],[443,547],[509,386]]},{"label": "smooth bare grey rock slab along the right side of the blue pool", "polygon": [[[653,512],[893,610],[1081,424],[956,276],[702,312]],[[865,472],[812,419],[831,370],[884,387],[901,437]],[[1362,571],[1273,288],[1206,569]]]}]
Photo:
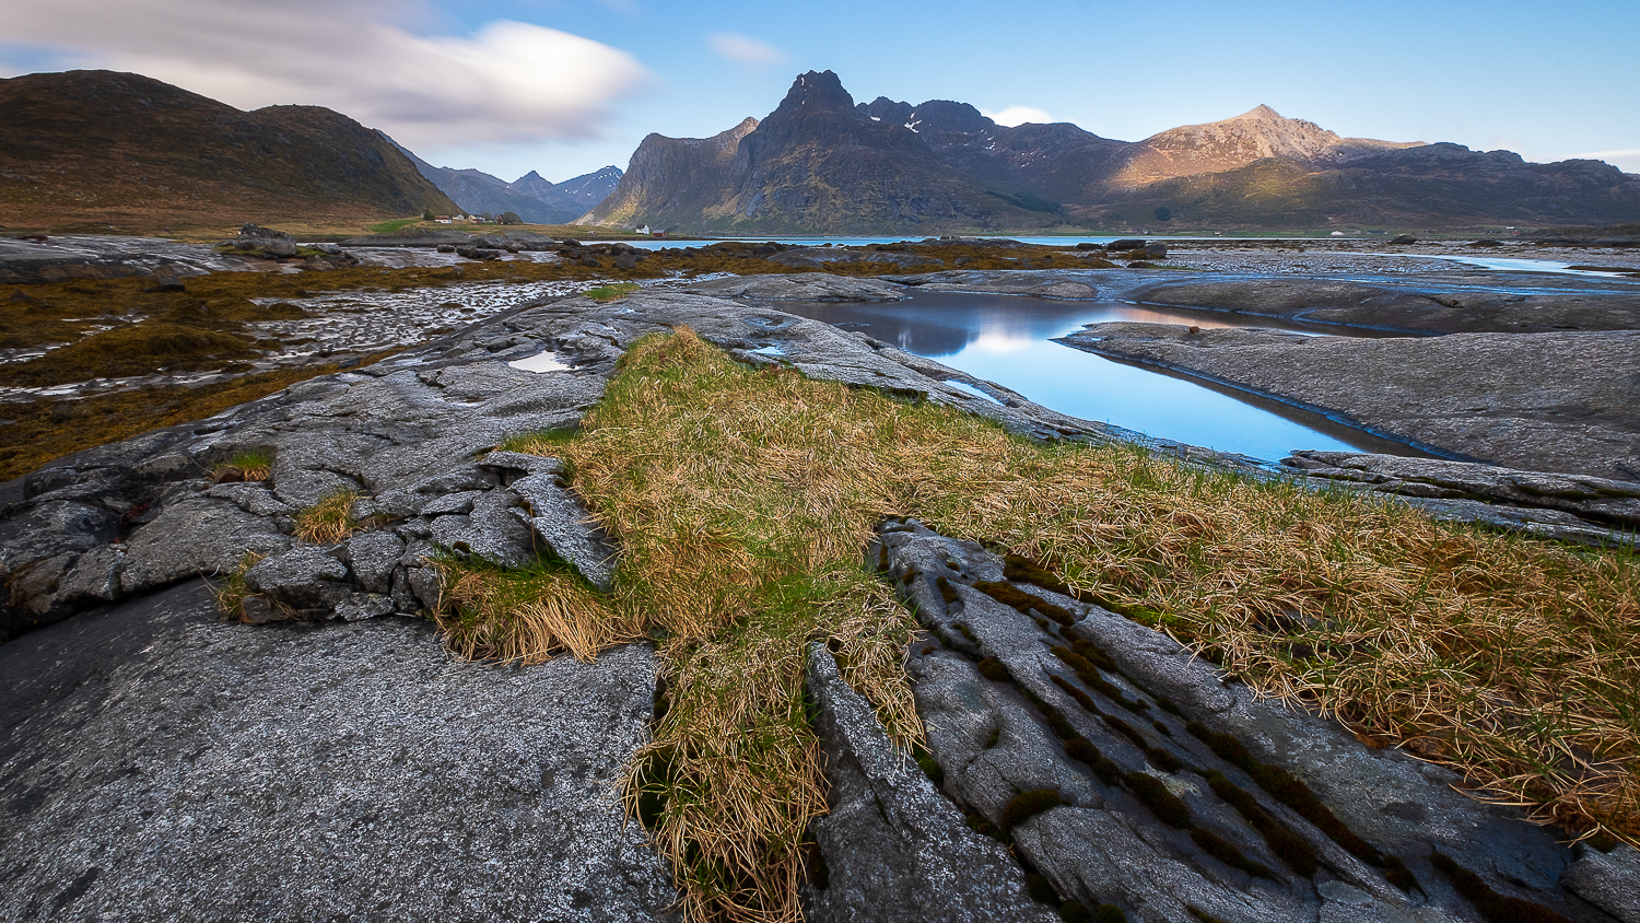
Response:
[{"label": "smooth bare grey rock slab along the right side of the blue pool", "polygon": [[1640,331],[1299,336],[1091,325],[1068,346],[1184,372],[1445,452],[1640,480]]}]

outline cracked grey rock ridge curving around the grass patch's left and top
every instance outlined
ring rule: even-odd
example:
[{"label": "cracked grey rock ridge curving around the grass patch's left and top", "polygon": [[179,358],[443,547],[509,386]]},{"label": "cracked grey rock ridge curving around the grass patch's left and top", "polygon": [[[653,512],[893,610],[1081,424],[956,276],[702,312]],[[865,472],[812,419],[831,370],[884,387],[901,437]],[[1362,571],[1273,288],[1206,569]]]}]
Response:
[{"label": "cracked grey rock ridge curving around the grass patch's left and top", "polygon": [[[707,282],[704,289],[727,282]],[[756,280],[753,280],[756,282]],[[897,285],[802,275],[813,295],[884,297]],[[15,485],[0,516],[0,608],[7,634],[198,574],[228,574],[246,554],[246,616],[366,618],[415,613],[436,587],[433,548],[518,566],[551,551],[594,584],[613,549],[556,462],[494,452],[505,438],[572,428],[638,336],[689,325],[753,364],[918,395],[1041,438],[1114,433],[1036,407],[936,362],[859,334],[704,293],[649,292],[599,305],[569,298],[513,311],[382,364],[313,379],[197,425],[59,459]],[[508,362],[551,352],[559,371]],[[954,384],[953,384],[954,382]],[[246,451],[274,457],[267,482],[213,484]],[[292,538],[295,516],[353,492],[377,538],[325,546]],[[359,543],[371,543],[361,557]],[[390,546],[390,548],[389,548]],[[367,561],[367,564],[361,564]]]}]

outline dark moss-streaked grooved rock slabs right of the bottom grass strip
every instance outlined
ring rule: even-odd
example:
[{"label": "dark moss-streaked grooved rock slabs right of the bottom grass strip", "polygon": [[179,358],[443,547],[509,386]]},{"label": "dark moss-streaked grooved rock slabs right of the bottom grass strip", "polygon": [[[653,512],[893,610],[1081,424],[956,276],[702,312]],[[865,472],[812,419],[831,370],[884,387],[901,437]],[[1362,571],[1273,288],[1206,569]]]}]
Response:
[{"label": "dark moss-streaked grooved rock slabs right of the bottom grass strip", "polygon": [[[1451,772],[1261,700],[1166,634],[1033,584],[971,541],[889,521],[868,561],[927,633],[907,672],[932,782],[966,826],[1012,844],[1015,874],[1030,871],[1030,893],[1066,918],[1468,921],[1476,882],[1517,915],[1632,918],[1635,879],[1619,869],[1640,854],[1627,846],[1568,849],[1519,812],[1463,795]],[[831,802],[846,810],[817,821],[828,890],[848,895],[853,920],[905,918],[912,895],[892,871],[922,849],[956,849],[961,831],[950,808],[902,820],[902,792],[925,782],[884,792],[886,734],[869,708],[830,692],[828,659],[815,649],[810,661],[843,766]],[[845,846],[823,823],[863,833]],[[954,898],[922,918],[973,918],[976,893],[997,916],[1027,918],[1009,903],[1017,877],[976,866],[961,885],[928,875],[923,887]]]}]

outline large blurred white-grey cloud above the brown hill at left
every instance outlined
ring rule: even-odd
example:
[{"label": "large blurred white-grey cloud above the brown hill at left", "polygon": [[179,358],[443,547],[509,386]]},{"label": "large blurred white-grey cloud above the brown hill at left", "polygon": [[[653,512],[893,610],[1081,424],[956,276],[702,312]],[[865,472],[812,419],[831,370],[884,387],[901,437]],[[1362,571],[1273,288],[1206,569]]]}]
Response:
[{"label": "large blurred white-grey cloud above the brown hill at left", "polygon": [[54,0],[11,7],[5,30],[80,66],[241,108],[328,107],[412,149],[595,138],[608,105],[651,80],[631,54],[543,26],[497,20],[458,38],[390,25],[420,11],[366,0]]}]

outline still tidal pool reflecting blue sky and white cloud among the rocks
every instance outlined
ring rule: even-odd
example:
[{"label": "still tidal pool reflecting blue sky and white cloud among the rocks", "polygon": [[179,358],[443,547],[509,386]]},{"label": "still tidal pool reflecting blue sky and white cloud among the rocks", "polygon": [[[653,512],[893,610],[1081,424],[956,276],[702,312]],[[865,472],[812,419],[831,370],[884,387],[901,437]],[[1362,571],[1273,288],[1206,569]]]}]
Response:
[{"label": "still tidal pool reflecting blue sky and white cloud among the rocks", "polygon": [[[907,352],[1014,389],[1059,413],[1192,446],[1269,461],[1292,449],[1422,454],[1276,400],[1114,362],[1051,341],[1087,323],[1215,328],[1251,326],[1263,318],[951,292],[920,292],[905,302],[876,305],[781,302],[779,308],[859,330]],[[1310,333],[1274,321],[1258,325]]]}]

